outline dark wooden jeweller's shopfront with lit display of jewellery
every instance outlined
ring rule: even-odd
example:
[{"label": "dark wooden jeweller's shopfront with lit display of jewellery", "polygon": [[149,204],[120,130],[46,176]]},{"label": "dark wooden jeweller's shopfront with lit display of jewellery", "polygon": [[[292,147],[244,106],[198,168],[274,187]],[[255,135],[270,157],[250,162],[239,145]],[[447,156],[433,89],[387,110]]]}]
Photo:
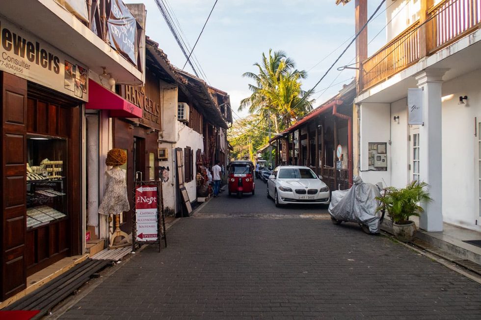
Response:
[{"label": "dark wooden jeweller's shopfront with lit display of jewellery", "polygon": [[79,101],[1,77],[1,298],[81,252]]}]

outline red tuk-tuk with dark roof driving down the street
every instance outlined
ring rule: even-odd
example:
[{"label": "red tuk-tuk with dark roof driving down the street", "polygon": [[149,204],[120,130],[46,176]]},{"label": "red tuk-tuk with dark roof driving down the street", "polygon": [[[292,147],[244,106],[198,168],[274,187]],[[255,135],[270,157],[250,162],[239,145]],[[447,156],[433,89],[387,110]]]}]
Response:
[{"label": "red tuk-tuk with dark roof driving down the street", "polygon": [[243,193],[254,195],[254,164],[251,161],[231,161],[227,170],[229,196],[237,194],[241,198]]}]

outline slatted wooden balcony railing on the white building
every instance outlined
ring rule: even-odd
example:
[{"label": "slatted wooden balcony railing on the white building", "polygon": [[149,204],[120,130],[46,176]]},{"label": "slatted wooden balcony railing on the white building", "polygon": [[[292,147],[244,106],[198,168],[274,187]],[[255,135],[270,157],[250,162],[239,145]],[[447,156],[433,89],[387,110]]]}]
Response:
[{"label": "slatted wooden balcony railing on the white building", "polygon": [[421,21],[410,25],[362,62],[360,90],[369,89],[423,56],[449,46],[478,29],[480,24],[481,0],[444,0],[430,6]]}]

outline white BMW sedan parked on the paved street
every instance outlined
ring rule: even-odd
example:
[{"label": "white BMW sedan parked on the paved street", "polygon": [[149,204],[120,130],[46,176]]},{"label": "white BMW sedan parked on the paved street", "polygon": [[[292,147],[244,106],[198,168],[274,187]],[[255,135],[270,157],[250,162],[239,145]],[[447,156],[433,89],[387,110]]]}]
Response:
[{"label": "white BMW sedan parked on the paved street", "polygon": [[267,180],[267,197],[275,205],[329,204],[329,187],[308,167],[279,166]]}]

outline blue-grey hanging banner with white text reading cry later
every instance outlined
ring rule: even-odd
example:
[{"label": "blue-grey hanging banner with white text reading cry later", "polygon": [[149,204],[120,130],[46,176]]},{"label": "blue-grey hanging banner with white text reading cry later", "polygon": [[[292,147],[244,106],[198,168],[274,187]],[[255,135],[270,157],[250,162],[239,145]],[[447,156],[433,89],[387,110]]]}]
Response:
[{"label": "blue-grey hanging banner with white text reading cry later", "polygon": [[137,66],[137,21],[121,0],[110,2],[107,30],[110,46]]}]

